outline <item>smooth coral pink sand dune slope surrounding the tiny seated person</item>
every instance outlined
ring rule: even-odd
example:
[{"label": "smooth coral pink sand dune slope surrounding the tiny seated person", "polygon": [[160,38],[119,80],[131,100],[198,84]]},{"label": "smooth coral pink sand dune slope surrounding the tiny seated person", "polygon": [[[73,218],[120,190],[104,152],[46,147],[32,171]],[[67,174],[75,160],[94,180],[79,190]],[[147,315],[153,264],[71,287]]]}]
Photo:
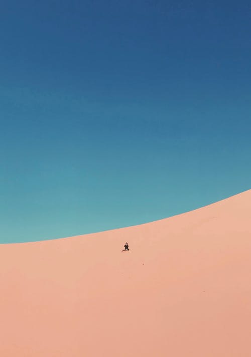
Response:
[{"label": "smooth coral pink sand dune slope surrounding the tiny seated person", "polygon": [[250,357],[250,216],[246,191],[140,226],[0,245],[0,355]]}]

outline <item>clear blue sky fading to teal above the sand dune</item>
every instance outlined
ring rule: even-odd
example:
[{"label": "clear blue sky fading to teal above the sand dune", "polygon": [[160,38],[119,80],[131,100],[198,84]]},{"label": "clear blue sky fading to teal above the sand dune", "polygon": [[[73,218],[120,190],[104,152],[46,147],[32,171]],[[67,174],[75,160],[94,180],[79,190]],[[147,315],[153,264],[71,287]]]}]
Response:
[{"label": "clear blue sky fading to teal above the sand dune", "polygon": [[250,189],[250,1],[0,5],[0,242]]}]

